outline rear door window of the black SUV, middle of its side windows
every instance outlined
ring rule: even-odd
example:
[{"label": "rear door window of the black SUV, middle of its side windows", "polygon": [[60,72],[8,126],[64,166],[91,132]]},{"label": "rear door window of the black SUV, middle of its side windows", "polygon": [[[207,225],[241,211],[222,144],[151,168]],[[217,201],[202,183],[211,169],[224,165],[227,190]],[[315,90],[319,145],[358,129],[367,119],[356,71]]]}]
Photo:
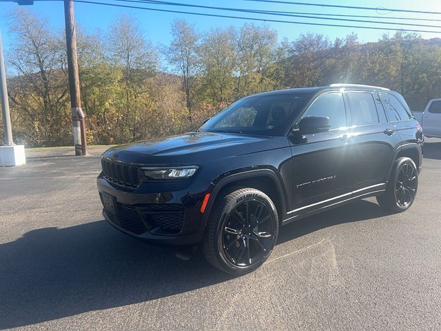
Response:
[{"label": "rear door window of the black SUV, middle of its side windows", "polygon": [[378,114],[371,93],[347,92],[353,126],[378,124]]}]

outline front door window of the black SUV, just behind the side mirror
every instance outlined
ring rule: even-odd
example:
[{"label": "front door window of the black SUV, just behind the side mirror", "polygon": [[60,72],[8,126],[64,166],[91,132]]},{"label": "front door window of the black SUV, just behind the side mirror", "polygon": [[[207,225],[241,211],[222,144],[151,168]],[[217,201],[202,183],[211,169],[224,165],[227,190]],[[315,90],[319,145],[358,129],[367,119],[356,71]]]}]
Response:
[{"label": "front door window of the black SUV, just behind the side mirror", "polygon": [[345,103],[341,93],[326,93],[320,95],[309,106],[303,117],[326,116],[331,122],[331,129],[347,126]]}]

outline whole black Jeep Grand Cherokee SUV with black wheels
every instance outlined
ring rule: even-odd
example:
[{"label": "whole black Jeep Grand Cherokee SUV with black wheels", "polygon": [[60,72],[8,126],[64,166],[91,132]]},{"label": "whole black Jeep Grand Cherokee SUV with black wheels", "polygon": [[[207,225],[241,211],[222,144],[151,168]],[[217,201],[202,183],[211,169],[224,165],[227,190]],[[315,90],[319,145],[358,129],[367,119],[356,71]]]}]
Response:
[{"label": "whole black Jeep Grand Cherokee SUV with black wheels", "polygon": [[98,189],[115,228],[201,244],[209,263],[245,274],[269,257],[280,225],[369,196],[407,210],[423,141],[387,88],[279,90],[232,103],[196,132],[110,148]]}]

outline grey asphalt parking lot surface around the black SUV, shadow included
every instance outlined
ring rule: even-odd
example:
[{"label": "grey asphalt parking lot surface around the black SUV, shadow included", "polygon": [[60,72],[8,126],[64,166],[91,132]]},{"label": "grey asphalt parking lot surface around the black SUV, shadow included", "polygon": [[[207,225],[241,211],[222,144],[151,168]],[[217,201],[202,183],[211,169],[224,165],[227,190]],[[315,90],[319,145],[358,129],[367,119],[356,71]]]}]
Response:
[{"label": "grey asphalt parking lot surface around the black SUV, shadow included", "polygon": [[291,223],[239,278],[108,225],[99,157],[28,157],[0,168],[1,330],[441,330],[440,139],[410,210],[365,199]]}]

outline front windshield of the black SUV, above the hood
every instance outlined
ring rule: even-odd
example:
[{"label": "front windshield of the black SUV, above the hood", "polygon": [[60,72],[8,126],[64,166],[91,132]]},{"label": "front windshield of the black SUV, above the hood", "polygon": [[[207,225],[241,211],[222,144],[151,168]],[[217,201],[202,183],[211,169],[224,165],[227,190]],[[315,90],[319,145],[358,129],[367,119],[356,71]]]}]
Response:
[{"label": "front windshield of the black SUV, above the hood", "polygon": [[281,135],[309,97],[309,94],[274,94],[240,99],[209,119],[198,131]]}]

